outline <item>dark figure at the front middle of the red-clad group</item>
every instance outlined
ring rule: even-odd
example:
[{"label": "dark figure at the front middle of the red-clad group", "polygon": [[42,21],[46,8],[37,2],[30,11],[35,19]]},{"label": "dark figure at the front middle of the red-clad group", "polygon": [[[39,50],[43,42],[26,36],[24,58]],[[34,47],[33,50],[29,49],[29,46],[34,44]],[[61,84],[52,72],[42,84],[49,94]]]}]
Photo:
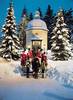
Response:
[{"label": "dark figure at the front middle of the red-clad group", "polygon": [[32,60],[32,70],[34,78],[38,78],[39,67],[40,67],[39,59],[35,56]]}]

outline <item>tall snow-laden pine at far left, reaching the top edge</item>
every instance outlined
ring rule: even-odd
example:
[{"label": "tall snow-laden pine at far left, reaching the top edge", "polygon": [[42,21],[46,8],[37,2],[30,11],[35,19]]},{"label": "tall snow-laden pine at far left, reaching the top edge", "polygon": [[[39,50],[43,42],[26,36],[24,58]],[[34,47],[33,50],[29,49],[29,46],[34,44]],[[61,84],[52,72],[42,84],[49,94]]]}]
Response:
[{"label": "tall snow-laden pine at far left, reaching the top edge", "polygon": [[16,32],[16,23],[12,0],[8,8],[8,15],[6,17],[5,24],[3,25],[2,32],[4,33],[4,36],[2,44],[0,46],[1,56],[6,58],[7,60],[18,58],[17,52],[20,43]]}]

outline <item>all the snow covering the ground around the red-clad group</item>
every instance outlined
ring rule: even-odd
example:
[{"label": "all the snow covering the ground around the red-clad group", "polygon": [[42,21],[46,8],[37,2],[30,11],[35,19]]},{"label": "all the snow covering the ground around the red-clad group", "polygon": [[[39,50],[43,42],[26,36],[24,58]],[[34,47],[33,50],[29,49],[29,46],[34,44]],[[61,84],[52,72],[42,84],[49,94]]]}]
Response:
[{"label": "all the snow covering the ground around the red-clad group", "polygon": [[52,61],[50,51],[47,55],[45,79],[22,77],[20,61],[0,58],[0,100],[73,100],[73,60]]}]

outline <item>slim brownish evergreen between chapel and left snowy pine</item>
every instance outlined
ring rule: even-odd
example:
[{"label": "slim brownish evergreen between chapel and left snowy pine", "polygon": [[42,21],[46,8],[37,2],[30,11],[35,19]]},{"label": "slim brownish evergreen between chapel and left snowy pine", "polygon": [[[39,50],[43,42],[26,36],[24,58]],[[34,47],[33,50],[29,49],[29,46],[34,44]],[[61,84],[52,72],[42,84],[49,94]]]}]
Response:
[{"label": "slim brownish evergreen between chapel and left snowy pine", "polygon": [[19,39],[20,39],[20,45],[22,48],[26,48],[26,27],[27,27],[27,24],[29,22],[29,17],[28,17],[28,14],[27,14],[27,10],[24,8],[23,11],[22,11],[22,18],[21,18],[21,22],[20,24],[18,25],[18,33],[19,33]]}]

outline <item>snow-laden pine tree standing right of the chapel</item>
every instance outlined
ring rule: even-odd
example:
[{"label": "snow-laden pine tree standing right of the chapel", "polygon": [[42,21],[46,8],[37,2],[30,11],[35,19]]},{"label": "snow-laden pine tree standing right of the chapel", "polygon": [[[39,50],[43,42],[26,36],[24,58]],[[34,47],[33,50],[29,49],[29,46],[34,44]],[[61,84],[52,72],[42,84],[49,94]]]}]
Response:
[{"label": "snow-laden pine tree standing right of the chapel", "polygon": [[69,29],[64,23],[63,12],[58,12],[56,27],[52,32],[52,58],[53,60],[68,60],[71,57]]}]

